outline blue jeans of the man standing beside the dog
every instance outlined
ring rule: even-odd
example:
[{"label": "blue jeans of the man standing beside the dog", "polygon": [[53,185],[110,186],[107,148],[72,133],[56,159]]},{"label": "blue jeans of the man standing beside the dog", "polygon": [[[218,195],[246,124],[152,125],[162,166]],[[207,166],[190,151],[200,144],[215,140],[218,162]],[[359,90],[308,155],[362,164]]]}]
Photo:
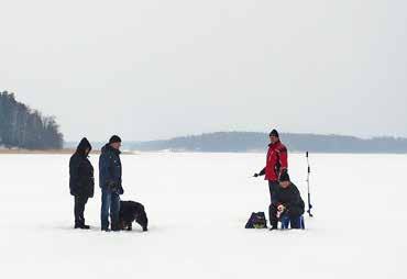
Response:
[{"label": "blue jeans of the man standing beside the dog", "polygon": [[110,190],[102,189],[102,205],[100,212],[101,230],[109,228],[109,213],[111,221],[111,228],[119,228],[119,212],[120,212],[120,197]]}]

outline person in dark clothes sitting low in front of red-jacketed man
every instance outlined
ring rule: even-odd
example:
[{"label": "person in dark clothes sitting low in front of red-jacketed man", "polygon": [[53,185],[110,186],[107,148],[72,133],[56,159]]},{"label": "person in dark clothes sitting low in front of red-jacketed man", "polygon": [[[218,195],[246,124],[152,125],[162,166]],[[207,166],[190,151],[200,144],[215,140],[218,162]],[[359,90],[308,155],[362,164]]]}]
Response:
[{"label": "person in dark clothes sitting low in front of red-jacketed man", "polygon": [[305,203],[298,188],[289,180],[287,172],[284,172],[279,178],[279,187],[272,197],[268,211],[272,231],[278,228],[278,221],[283,216],[289,217],[292,228],[301,228],[300,216],[305,212]]}]

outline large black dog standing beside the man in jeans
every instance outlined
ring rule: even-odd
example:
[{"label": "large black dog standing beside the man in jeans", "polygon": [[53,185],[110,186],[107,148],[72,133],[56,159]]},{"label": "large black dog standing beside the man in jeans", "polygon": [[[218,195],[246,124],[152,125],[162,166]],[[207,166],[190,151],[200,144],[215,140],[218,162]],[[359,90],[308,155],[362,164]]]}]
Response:
[{"label": "large black dog standing beside the man in jeans", "polygon": [[132,231],[132,223],[136,222],[143,228],[148,231],[148,219],[144,205],[134,201],[120,201],[120,228]]}]

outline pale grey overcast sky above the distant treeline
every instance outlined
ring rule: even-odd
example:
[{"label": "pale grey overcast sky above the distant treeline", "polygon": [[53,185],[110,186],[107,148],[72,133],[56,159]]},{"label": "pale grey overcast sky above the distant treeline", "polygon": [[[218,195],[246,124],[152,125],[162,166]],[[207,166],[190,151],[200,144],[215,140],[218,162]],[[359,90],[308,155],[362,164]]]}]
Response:
[{"label": "pale grey overcast sky above the distant treeline", "polygon": [[407,136],[407,1],[0,0],[0,90],[66,140]]}]

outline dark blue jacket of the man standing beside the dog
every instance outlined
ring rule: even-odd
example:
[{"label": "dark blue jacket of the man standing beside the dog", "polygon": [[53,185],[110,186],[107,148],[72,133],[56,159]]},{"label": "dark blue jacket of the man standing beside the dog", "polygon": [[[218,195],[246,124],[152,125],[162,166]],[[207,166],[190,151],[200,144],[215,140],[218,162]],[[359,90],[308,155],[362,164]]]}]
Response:
[{"label": "dark blue jacket of the man standing beside the dog", "polygon": [[102,147],[99,158],[100,188],[113,191],[122,188],[121,176],[122,167],[120,160],[120,150],[114,149],[107,144]]}]

